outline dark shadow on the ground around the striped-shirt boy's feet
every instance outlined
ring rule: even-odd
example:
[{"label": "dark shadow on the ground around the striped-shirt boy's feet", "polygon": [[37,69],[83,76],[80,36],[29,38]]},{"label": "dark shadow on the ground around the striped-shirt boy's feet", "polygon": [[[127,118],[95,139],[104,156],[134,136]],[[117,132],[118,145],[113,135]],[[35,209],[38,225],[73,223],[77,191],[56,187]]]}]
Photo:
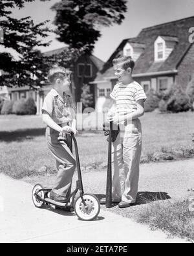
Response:
[{"label": "dark shadow on the ground around the striped-shirt boy's feet", "polygon": [[[105,198],[105,194],[95,194],[95,196],[98,198],[98,200]],[[167,192],[140,191],[138,192],[136,202],[133,205],[149,204],[151,202],[168,199],[171,199],[171,197],[167,194]]]}]

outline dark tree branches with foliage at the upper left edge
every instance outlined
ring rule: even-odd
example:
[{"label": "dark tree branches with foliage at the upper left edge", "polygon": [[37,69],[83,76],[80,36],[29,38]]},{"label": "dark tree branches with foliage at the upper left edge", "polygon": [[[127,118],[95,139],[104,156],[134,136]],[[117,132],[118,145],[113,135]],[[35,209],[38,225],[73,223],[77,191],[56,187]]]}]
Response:
[{"label": "dark tree branches with foliage at the upper left edge", "polygon": [[49,41],[42,42],[42,39],[47,38],[48,32],[51,31],[45,27],[48,21],[35,25],[30,17],[21,19],[12,17],[13,8],[23,8],[25,3],[33,1],[35,0],[1,0],[0,2],[0,27],[4,34],[2,44],[5,48],[14,49],[19,55],[19,60],[14,60],[11,54],[0,53],[0,69],[4,71],[4,75],[0,76],[0,82],[5,86],[12,86],[12,84],[33,86],[32,73],[36,75],[38,83],[44,78],[43,72],[39,72],[37,65],[44,70],[45,62],[41,52],[34,48],[49,45]]}]

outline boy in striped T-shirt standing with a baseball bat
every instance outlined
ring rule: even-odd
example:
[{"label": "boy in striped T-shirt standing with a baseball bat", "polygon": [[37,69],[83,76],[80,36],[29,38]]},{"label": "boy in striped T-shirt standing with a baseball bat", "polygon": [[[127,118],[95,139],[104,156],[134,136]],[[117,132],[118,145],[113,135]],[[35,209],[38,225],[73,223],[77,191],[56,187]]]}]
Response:
[{"label": "boy in striped T-shirt standing with a baseball bat", "polygon": [[113,106],[107,121],[118,124],[120,133],[113,142],[113,203],[129,207],[136,201],[139,180],[139,164],[142,150],[142,129],[138,119],[144,115],[146,93],[132,78],[135,62],[131,57],[113,60],[118,84],[111,93]]}]

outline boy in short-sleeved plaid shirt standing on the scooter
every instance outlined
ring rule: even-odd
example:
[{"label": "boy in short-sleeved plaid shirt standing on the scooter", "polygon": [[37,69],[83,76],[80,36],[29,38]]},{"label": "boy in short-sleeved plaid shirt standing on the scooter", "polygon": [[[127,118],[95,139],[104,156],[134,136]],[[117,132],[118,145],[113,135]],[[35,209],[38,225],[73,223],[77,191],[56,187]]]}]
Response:
[{"label": "boy in short-sleeved plaid shirt standing on the scooter", "polygon": [[72,176],[76,169],[76,160],[70,152],[68,142],[58,141],[70,132],[77,133],[75,107],[70,95],[70,73],[63,67],[54,67],[48,73],[52,89],[43,102],[43,122],[47,124],[47,145],[56,159],[58,174],[56,183],[50,192],[50,198],[56,202],[67,202],[70,195]]}]

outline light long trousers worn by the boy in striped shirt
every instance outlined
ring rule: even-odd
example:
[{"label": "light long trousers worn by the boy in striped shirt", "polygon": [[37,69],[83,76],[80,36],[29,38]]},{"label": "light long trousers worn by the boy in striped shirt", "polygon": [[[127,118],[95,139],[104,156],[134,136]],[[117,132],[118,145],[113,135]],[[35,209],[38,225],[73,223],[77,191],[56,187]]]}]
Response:
[{"label": "light long trousers worn by the boy in striped shirt", "polygon": [[120,125],[120,133],[112,145],[113,198],[135,203],[138,192],[139,165],[142,151],[142,129],[139,119],[127,126]]}]

